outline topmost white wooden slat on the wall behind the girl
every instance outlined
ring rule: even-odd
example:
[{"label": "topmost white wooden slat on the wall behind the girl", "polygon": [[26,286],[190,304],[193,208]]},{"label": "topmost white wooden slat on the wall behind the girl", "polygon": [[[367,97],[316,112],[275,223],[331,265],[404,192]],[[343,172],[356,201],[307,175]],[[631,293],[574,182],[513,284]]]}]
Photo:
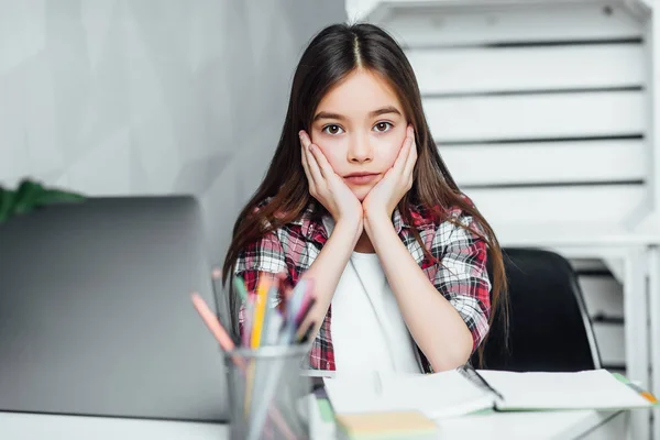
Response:
[{"label": "topmost white wooden slat on the wall behind the girl", "polygon": [[382,24],[408,46],[479,45],[641,37],[642,26],[618,6],[530,6],[473,10],[400,9]]}]

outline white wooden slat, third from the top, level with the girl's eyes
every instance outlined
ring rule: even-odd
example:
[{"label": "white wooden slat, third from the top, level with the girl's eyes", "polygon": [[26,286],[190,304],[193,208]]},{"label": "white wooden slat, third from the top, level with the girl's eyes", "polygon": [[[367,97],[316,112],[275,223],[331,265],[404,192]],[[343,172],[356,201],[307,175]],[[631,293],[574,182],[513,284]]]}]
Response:
[{"label": "white wooden slat, third from the top, level with the girl's eyes", "polygon": [[552,139],[642,133],[644,92],[609,91],[427,98],[439,141]]}]

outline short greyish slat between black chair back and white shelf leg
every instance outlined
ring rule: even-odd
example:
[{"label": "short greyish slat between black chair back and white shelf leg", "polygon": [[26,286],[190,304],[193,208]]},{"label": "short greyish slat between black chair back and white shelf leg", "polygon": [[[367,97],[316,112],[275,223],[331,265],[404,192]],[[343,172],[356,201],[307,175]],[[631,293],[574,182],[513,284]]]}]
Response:
[{"label": "short greyish slat between black chair back and white shelf leg", "polygon": [[588,316],[624,317],[624,288],[614,277],[581,275],[578,282]]}]

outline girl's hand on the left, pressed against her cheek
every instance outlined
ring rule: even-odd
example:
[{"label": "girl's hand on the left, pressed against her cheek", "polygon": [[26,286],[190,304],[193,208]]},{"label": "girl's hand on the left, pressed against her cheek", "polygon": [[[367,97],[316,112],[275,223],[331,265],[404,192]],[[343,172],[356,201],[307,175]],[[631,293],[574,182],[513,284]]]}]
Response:
[{"label": "girl's hand on the left, pressed against her cheek", "polygon": [[360,229],[362,233],[363,211],[360,200],[318,147],[311,143],[309,135],[301,130],[300,145],[302,148],[302,168],[309,183],[309,194],[326,207],[336,223],[349,223]]}]

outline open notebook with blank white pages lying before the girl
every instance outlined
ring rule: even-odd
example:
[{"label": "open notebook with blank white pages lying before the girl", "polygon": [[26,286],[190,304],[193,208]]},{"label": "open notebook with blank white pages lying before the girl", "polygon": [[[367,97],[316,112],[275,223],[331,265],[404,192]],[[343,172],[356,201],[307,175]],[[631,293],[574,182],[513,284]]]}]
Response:
[{"label": "open notebook with blank white pages lying before the girl", "polygon": [[452,370],[436,374],[324,380],[337,414],[415,409],[439,419],[485,409],[628,409],[657,400],[606,370],[512,373]]}]

